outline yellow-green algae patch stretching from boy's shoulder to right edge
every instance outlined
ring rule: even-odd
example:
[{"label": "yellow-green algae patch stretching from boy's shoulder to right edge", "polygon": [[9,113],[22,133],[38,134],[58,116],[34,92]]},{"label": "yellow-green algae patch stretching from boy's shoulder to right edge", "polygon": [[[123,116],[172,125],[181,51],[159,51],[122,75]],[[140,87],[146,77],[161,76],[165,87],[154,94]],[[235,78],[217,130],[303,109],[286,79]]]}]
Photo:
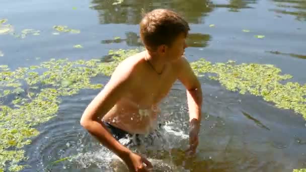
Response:
[{"label": "yellow-green algae patch stretching from boy's shoulder to right edge", "polygon": [[212,64],[200,59],[191,63],[194,71],[211,73],[208,77],[218,80],[223,87],[233,92],[247,92],[273,102],[277,108],[293,110],[306,120],[306,85],[297,82],[281,81],[290,79],[288,74],[281,75],[281,69],[271,64],[242,63],[235,61]]}]

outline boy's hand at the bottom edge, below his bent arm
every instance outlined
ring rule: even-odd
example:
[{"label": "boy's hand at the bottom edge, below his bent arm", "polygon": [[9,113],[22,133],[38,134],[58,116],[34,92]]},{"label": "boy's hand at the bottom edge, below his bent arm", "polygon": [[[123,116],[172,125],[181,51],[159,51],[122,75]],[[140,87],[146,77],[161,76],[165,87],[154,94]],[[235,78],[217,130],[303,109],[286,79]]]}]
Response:
[{"label": "boy's hand at the bottom edge, below his bent arm", "polygon": [[150,170],[150,168],[153,168],[151,162],[149,162],[145,157],[133,152],[130,152],[127,157],[123,158],[123,160],[128,166],[129,170],[133,172],[147,172]]}]

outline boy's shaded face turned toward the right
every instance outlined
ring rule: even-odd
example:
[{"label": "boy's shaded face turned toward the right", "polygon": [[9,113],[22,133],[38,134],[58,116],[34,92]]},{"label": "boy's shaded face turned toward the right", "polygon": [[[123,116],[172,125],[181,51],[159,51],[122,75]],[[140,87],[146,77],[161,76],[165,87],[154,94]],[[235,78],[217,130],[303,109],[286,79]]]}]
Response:
[{"label": "boy's shaded face turned toward the right", "polygon": [[186,45],[186,36],[184,33],[181,33],[177,39],[173,42],[171,47],[167,47],[166,58],[169,61],[177,60],[184,55]]}]

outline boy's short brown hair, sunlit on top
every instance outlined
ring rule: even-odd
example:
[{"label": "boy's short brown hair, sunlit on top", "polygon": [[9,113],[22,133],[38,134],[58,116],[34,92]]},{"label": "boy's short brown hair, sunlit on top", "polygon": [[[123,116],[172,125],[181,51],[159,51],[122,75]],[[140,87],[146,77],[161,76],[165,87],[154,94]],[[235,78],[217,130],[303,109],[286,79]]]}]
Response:
[{"label": "boy's short brown hair, sunlit on top", "polygon": [[171,46],[181,33],[187,36],[189,30],[188,23],[179,14],[167,9],[146,13],[140,22],[140,38],[153,51],[163,44]]}]

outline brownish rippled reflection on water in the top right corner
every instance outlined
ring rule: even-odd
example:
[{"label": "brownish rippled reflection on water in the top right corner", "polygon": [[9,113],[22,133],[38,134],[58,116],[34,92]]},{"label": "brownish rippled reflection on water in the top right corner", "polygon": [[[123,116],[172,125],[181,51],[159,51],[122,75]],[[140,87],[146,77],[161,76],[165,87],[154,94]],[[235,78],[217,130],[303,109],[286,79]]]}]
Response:
[{"label": "brownish rippled reflection on water in the top right corner", "polygon": [[305,0],[272,0],[278,7],[271,9],[276,13],[295,16],[298,21],[306,21]]}]

